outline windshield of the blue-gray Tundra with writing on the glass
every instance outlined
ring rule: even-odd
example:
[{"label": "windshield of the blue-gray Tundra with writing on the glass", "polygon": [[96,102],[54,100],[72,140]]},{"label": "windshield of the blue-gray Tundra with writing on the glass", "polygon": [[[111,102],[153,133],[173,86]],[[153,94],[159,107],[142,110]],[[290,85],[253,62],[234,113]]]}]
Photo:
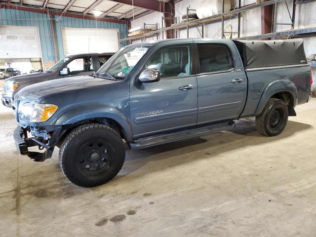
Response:
[{"label": "windshield of the blue-gray Tundra with writing on the glass", "polygon": [[145,55],[151,45],[127,46],[120,49],[95,74],[96,77],[113,77],[125,79],[138,61]]}]

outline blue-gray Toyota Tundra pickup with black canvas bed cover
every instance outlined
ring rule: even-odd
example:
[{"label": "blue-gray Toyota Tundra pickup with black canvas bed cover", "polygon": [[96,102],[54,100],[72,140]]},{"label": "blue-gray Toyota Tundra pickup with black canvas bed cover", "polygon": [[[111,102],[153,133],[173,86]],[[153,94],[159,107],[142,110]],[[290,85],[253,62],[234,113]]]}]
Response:
[{"label": "blue-gray Toyota Tundra pickup with black canvas bed cover", "polygon": [[278,135],[312,84],[300,39],[142,42],[121,48],[90,77],[28,86],[12,106],[19,153],[43,161],[59,147],[65,176],[82,187],[115,177],[125,147],[231,129],[244,117],[256,117],[261,134]]}]

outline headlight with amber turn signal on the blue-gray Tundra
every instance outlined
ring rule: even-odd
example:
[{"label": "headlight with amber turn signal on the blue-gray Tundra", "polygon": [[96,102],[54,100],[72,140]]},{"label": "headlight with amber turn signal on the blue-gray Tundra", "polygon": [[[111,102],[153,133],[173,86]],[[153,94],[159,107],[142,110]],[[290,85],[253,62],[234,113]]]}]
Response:
[{"label": "headlight with amber turn signal on the blue-gray Tundra", "polygon": [[25,103],[20,111],[20,119],[28,122],[44,122],[52,117],[58,109],[53,104]]}]

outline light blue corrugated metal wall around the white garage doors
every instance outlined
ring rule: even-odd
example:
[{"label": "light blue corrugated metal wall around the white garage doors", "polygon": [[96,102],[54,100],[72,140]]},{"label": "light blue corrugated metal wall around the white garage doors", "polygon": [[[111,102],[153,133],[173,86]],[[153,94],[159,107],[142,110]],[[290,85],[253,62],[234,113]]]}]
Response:
[{"label": "light blue corrugated metal wall around the white garage doors", "polygon": [[[62,39],[62,27],[79,27],[79,28],[111,28],[119,30],[119,38],[127,36],[127,25],[104,21],[94,21],[73,17],[53,16],[54,31],[56,39],[56,47],[58,51],[58,59],[64,57],[64,47]],[[21,11],[14,9],[0,9],[0,25],[11,26],[37,26],[40,32],[40,44],[42,51],[42,60],[55,61],[53,40],[51,34],[51,24],[49,22],[49,15],[31,11]],[[121,45],[123,46],[123,45]]]}]

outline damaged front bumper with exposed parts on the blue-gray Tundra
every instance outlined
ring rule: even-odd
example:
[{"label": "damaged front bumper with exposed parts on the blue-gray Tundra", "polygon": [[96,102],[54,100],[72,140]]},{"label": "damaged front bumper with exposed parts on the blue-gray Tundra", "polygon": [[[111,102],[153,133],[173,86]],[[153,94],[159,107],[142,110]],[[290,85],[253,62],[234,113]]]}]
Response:
[{"label": "damaged front bumper with exposed parts on the blue-gray Tundra", "polygon": [[[16,149],[18,153],[24,156],[28,156],[34,161],[44,161],[51,158],[55,145],[61,137],[61,128],[56,129],[52,133],[41,131],[32,134],[34,137],[28,137],[28,132],[31,132],[30,127],[17,126],[14,130],[13,137],[15,140]],[[36,136],[38,135],[38,136]],[[31,152],[29,147],[38,146],[40,150],[45,149],[44,152]]]}]

